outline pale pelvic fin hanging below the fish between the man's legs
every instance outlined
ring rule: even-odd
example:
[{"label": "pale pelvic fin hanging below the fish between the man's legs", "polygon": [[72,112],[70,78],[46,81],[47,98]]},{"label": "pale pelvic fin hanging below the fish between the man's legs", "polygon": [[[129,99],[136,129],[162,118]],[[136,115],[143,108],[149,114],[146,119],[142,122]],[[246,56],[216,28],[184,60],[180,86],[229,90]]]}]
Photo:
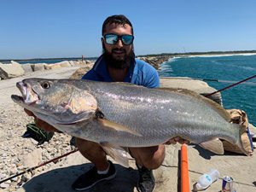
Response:
[{"label": "pale pelvic fin hanging below the fish between the man's legs", "polygon": [[108,154],[113,160],[117,161],[120,165],[129,167],[129,154],[124,148],[110,144],[110,143],[100,143],[103,150]]}]

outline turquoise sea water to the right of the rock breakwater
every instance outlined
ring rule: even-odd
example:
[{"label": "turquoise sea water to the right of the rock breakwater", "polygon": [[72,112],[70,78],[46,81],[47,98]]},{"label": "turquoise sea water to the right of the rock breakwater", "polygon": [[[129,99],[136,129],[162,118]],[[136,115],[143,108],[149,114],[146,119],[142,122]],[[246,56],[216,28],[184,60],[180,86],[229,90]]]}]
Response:
[{"label": "turquoise sea water to the right of the rock breakwater", "polygon": [[[256,55],[222,55],[172,58],[160,67],[162,77],[211,79],[207,84],[216,90],[256,74]],[[215,81],[215,80],[218,80]],[[221,92],[224,108],[239,108],[256,125],[256,78]]]}]

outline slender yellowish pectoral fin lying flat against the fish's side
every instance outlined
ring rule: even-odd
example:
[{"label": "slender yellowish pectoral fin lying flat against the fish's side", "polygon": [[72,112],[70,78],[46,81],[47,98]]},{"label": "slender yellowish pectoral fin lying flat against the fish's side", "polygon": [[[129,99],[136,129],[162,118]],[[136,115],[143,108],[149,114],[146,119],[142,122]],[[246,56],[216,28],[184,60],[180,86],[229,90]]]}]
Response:
[{"label": "slender yellowish pectoral fin lying flat against the fish's side", "polygon": [[125,131],[127,133],[131,133],[132,135],[142,137],[140,133],[131,130],[129,127],[126,127],[124,125],[119,125],[107,119],[97,119],[97,121],[102,125],[103,128],[112,129],[113,131]]}]

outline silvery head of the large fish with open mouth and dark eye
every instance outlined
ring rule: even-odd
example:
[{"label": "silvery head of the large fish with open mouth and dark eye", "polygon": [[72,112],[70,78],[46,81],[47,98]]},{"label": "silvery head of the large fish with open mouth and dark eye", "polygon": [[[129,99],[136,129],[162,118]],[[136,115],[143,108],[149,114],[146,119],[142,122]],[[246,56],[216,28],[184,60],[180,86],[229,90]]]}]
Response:
[{"label": "silvery head of the large fish with open mouth and dark eye", "polygon": [[74,124],[90,119],[97,102],[88,90],[79,89],[73,81],[61,79],[24,79],[16,84],[21,96],[14,102],[32,111],[39,119],[53,124]]}]

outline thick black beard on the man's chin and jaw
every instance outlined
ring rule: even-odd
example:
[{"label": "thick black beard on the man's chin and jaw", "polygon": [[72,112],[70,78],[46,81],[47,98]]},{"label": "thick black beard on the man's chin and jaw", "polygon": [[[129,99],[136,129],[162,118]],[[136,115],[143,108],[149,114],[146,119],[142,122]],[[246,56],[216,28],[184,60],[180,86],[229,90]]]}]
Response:
[{"label": "thick black beard on the man's chin and jaw", "polygon": [[[122,51],[125,52],[125,49],[122,49]],[[103,58],[106,61],[108,67],[123,69],[126,67],[130,67],[131,61],[135,61],[135,54],[132,49],[128,55],[125,52],[124,58],[118,60],[118,59],[113,58],[112,53],[111,52],[109,53],[103,46]]]}]

